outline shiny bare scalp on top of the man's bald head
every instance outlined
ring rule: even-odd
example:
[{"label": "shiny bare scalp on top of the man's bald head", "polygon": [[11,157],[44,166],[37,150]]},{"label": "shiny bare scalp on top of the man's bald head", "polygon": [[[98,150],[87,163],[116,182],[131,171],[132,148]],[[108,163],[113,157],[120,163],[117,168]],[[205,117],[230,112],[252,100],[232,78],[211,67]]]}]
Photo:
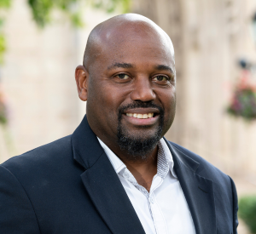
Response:
[{"label": "shiny bare scalp on top of the man's bald head", "polygon": [[84,51],[84,67],[89,71],[98,56],[113,49],[125,49],[125,42],[151,38],[162,43],[174,58],[170,37],[152,20],[140,14],[120,14],[97,25],[88,37]]}]

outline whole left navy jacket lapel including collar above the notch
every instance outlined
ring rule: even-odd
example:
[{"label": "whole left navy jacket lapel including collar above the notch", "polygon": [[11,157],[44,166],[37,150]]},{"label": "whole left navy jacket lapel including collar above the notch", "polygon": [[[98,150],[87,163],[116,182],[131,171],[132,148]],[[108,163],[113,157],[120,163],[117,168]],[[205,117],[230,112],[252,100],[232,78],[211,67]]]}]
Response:
[{"label": "whole left navy jacket lapel including collar above the notch", "polygon": [[108,228],[114,234],[144,234],[129,197],[86,116],[73,133],[72,144],[74,159],[85,168],[81,174],[84,187]]}]

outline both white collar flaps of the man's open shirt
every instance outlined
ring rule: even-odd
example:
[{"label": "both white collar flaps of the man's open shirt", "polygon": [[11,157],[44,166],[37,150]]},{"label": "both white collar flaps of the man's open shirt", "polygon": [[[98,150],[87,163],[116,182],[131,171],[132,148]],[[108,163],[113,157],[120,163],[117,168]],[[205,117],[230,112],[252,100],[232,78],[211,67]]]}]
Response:
[{"label": "both white collar flaps of the man's open shirt", "polygon": [[[115,172],[117,174],[119,174],[124,168],[126,168],[125,166],[125,163],[123,163],[119,157],[117,157],[113,151],[111,151],[108,146],[105,145],[105,143],[100,140],[98,137],[97,139],[99,140],[103,150],[106,152],[107,156],[108,156],[108,159],[110,161],[110,163],[113,165],[113,168],[115,170]],[[174,176],[175,178],[177,178],[177,175],[175,174],[174,172],[174,162],[173,162],[173,159],[172,159],[172,153],[171,151],[169,150],[167,144],[166,144],[166,141],[161,138],[160,139],[160,142],[158,144],[159,146],[159,151],[158,151],[158,163],[157,163],[157,173],[159,174],[160,173],[160,158],[161,160],[165,159],[166,163],[168,163],[168,166],[169,166],[169,169],[170,169],[170,172],[172,174],[172,176]]]}]

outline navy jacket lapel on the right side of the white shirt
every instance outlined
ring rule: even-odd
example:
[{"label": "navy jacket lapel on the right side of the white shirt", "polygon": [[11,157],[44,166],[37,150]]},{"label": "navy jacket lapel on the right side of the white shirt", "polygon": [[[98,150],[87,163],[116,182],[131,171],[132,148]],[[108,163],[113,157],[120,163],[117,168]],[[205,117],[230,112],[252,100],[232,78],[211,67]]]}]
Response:
[{"label": "navy jacket lapel on the right side of the white shirt", "polygon": [[[166,140],[166,139],[165,139]],[[172,152],[174,170],[195,225],[196,234],[216,234],[216,214],[213,182],[196,173],[200,163],[195,162],[167,140]]]}]

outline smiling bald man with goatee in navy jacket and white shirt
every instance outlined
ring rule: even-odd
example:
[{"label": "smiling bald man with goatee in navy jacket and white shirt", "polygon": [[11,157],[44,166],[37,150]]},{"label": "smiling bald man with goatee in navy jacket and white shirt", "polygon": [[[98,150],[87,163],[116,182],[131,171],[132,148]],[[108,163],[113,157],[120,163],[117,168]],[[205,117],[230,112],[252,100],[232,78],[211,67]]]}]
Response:
[{"label": "smiling bald man with goatee in navy jacket and white shirt", "polygon": [[170,38],[123,14],[90,33],[75,132],[0,167],[1,233],[236,233],[233,181],[163,138],[175,115]]}]

